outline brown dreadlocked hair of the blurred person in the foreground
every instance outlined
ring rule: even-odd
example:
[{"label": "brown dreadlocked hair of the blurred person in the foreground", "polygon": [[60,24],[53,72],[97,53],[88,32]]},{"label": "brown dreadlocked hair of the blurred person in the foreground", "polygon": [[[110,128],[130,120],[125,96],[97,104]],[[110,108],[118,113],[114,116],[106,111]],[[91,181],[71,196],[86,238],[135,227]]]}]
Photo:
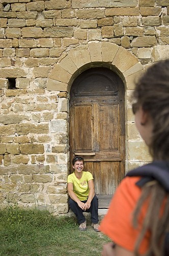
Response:
[{"label": "brown dreadlocked hair of the blurred person in the foreground", "polygon": [[[133,94],[136,103],[133,110],[142,106],[152,118],[153,134],[149,146],[154,160],[169,160],[169,60],[163,60],[152,65],[136,83]],[[158,182],[144,185],[142,194],[133,214],[133,225],[138,226],[143,204],[149,200],[147,213],[143,220],[142,230],[135,244],[134,255],[138,250],[147,231],[151,238],[146,256],[164,255],[164,239],[169,231],[169,195]],[[166,201],[165,201],[166,200]],[[164,203],[165,202],[165,203]],[[163,212],[161,212],[161,207]]]}]

